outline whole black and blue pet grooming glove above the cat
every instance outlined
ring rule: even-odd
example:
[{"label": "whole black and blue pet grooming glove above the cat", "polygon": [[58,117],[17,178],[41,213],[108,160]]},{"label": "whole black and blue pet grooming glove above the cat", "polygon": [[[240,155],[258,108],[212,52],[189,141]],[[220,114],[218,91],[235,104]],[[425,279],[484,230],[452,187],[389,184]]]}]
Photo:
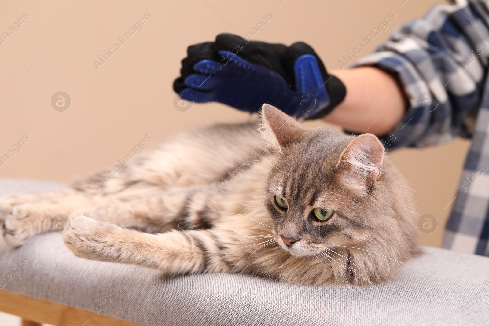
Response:
[{"label": "whole black and blue pet grooming glove above the cat", "polygon": [[[238,51],[219,49],[242,43]],[[211,59],[195,59],[209,54]],[[329,113],[345,95],[343,84],[327,74],[305,43],[287,47],[221,34],[216,43],[189,47],[182,65],[182,77],[174,88],[180,98],[197,103],[216,101],[249,112],[268,103],[297,118],[316,118]]]}]

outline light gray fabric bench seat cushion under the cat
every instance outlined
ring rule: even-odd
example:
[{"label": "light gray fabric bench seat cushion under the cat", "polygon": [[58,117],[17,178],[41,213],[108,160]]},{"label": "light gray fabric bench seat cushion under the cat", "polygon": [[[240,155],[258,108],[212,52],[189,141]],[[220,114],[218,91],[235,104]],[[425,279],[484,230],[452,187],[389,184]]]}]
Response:
[{"label": "light gray fabric bench seat cushion under the cat", "polygon": [[[56,186],[20,181],[29,191]],[[1,193],[23,190],[15,187],[0,180]],[[149,268],[76,258],[48,233],[19,249],[2,243],[0,278],[26,257],[6,290],[146,325],[488,325],[489,258],[422,249],[396,281],[309,287],[232,274],[166,279]]]}]

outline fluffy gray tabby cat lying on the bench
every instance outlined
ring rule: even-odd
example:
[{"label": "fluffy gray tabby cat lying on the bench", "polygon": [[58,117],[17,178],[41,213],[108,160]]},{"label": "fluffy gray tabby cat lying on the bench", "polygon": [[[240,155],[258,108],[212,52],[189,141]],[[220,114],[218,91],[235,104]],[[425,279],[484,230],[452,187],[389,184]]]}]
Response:
[{"label": "fluffy gray tabby cat lying on the bench", "polygon": [[103,176],[41,203],[0,198],[5,241],[65,214],[78,257],[308,285],[378,283],[418,253],[412,191],[376,136],[307,129],[269,105],[259,125],[183,133],[97,187]]}]

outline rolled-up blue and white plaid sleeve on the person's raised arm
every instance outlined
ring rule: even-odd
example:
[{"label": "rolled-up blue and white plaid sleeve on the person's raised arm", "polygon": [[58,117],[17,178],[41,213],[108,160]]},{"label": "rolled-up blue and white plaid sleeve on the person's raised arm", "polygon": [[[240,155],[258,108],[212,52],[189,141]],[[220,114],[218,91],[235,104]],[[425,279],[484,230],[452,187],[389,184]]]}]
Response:
[{"label": "rolled-up blue and white plaid sleeve on the person's raised arm", "polygon": [[470,137],[489,58],[489,12],[484,1],[437,5],[397,29],[355,66],[377,66],[397,76],[409,107],[381,138],[388,149],[423,147]]}]

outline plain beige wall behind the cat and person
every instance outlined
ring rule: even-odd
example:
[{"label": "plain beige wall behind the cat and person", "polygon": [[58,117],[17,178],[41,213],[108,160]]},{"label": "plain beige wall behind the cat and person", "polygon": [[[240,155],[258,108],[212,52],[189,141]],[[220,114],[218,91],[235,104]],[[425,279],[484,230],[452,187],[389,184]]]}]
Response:
[{"label": "plain beige wall behind the cat and person", "polygon": [[[328,68],[337,69],[338,60],[389,13],[396,18],[361,55],[372,52],[396,26],[421,17],[439,2],[38,1],[0,4],[0,32],[22,13],[28,15],[20,30],[0,44],[0,155],[28,136],[21,151],[0,167],[0,177],[68,181],[111,165],[145,134],[152,137],[147,151],[178,130],[247,119],[247,113],[217,103],[195,104],[187,112],[175,109],[172,83],[189,44],[213,40],[222,32],[244,36],[271,13],[273,18],[254,40],[310,43]],[[142,30],[120,43],[117,38],[145,13],[151,18]],[[97,69],[94,60],[116,42],[120,49]],[[63,112],[51,107],[58,91],[71,98]],[[467,149],[467,142],[458,139],[391,154],[415,188],[421,213],[439,220],[438,230],[421,235],[421,243],[441,244],[453,202],[445,206],[455,196]]]}]

